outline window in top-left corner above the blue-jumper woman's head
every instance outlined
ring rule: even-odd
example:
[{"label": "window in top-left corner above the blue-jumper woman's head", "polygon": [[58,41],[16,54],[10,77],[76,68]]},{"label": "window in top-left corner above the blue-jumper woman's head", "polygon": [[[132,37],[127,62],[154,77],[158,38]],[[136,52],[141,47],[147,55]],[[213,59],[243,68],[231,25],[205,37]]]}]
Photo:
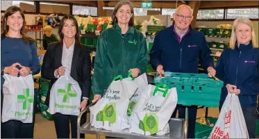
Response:
[{"label": "window in top-left corner above the blue-jumper woman's head", "polygon": [[1,1],[1,10],[7,10],[10,6],[18,6],[25,12],[36,12],[34,1]]}]

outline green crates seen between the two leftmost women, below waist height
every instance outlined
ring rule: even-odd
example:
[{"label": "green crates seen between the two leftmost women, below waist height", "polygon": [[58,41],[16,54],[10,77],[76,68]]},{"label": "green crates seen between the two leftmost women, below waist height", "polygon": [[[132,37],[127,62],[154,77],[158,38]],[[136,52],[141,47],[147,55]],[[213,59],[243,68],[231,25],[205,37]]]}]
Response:
[{"label": "green crates seen between the two leftmost women, below waist height", "polygon": [[50,80],[40,78],[40,111],[42,113],[42,117],[46,118],[47,120],[53,120],[52,115],[47,112],[49,107],[45,105],[49,84]]}]

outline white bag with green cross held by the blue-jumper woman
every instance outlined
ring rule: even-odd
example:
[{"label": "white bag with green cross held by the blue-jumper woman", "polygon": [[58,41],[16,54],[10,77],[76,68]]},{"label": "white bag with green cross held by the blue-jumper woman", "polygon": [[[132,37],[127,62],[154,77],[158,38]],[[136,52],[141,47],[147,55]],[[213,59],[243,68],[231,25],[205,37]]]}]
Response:
[{"label": "white bag with green cross held by the blue-jumper woman", "polygon": [[18,120],[33,122],[34,82],[33,76],[10,76],[3,74],[2,122]]}]

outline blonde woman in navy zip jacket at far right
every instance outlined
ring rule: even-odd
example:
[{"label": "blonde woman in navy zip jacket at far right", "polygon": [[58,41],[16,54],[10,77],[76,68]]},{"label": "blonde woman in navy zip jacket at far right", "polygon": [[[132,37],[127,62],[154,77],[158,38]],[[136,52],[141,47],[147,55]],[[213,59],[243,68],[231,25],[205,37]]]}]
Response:
[{"label": "blonde woman in navy zip jacket at far right", "polygon": [[219,109],[228,93],[240,99],[249,138],[256,138],[256,99],[258,85],[258,45],[253,24],[247,17],[235,19],[230,47],[225,49],[216,65],[217,78],[224,81]]}]

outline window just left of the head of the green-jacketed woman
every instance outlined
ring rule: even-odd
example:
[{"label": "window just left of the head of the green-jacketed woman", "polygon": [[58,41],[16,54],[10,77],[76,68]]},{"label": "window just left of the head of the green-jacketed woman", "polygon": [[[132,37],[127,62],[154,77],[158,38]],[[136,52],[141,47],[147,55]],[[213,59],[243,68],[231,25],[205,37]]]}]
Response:
[{"label": "window just left of the head of the green-jacketed woman", "polygon": [[73,15],[91,15],[97,16],[97,7],[89,6],[74,6],[73,5]]}]

